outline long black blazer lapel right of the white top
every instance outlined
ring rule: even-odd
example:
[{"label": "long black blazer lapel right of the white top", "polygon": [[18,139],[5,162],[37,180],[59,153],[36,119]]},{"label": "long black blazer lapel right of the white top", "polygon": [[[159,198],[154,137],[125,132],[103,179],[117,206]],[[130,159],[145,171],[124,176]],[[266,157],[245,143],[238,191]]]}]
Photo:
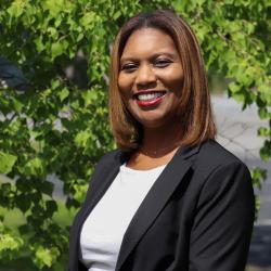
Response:
[{"label": "long black blazer lapel right of the white top", "polygon": [[171,162],[158,177],[126,231],[117,260],[116,271],[124,264],[129,254],[163,210],[168,198],[190,169],[191,163],[185,160],[185,158],[197,151],[198,147],[183,147],[178,150]]}]

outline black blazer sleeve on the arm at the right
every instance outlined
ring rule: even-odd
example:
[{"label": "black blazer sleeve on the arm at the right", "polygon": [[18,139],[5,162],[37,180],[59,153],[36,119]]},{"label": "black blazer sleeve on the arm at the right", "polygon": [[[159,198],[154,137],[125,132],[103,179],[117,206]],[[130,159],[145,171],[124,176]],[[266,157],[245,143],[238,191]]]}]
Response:
[{"label": "black blazer sleeve on the arm at the right", "polygon": [[254,218],[255,198],[247,167],[241,162],[218,166],[198,197],[190,271],[244,270]]}]

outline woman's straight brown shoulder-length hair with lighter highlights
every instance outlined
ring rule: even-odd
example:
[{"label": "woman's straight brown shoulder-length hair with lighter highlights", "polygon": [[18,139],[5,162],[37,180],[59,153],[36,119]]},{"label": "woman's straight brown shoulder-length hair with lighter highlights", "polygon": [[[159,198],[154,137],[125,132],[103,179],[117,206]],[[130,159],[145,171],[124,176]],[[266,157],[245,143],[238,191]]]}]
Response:
[{"label": "woman's straight brown shoulder-length hair with lighter highlights", "polygon": [[118,88],[119,62],[130,35],[141,28],[155,28],[168,34],[180,54],[183,66],[180,129],[181,145],[195,145],[216,137],[210,95],[203,57],[191,27],[171,11],[158,10],[140,13],[130,18],[119,30],[112,51],[109,76],[109,121],[118,147],[138,149],[143,129],[125,106]]}]

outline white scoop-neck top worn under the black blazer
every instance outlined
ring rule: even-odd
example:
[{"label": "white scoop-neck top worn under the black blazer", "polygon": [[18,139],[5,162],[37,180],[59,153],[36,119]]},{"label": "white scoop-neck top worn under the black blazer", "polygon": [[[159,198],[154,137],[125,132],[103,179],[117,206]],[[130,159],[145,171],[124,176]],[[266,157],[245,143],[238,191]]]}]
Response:
[{"label": "white scoop-neck top worn under the black blazer", "polygon": [[119,173],[82,225],[81,261],[89,271],[115,270],[125,232],[165,167],[150,170],[120,167]]}]

